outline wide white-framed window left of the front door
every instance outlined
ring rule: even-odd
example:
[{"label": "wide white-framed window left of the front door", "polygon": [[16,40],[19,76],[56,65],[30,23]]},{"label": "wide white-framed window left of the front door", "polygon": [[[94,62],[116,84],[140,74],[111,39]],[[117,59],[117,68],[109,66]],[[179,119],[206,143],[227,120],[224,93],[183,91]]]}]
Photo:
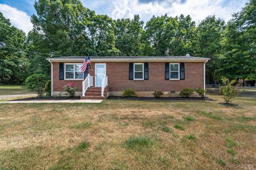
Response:
[{"label": "wide white-framed window left of the front door", "polygon": [[81,66],[82,64],[65,64],[65,79],[84,79],[84,73],[81,71]]}]

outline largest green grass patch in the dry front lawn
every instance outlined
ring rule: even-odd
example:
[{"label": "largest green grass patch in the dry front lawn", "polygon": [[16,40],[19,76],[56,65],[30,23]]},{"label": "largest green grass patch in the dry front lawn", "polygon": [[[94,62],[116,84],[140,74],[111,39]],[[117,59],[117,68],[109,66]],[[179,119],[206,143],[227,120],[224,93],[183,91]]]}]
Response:
[{"label": "largest green grass patch in the dry front lawn", "polygon": [[131,136],[125,141],[125,146],[127,148],[138,148],[138,147],[148,147],[153,145],[153,140],[145,136]]}]

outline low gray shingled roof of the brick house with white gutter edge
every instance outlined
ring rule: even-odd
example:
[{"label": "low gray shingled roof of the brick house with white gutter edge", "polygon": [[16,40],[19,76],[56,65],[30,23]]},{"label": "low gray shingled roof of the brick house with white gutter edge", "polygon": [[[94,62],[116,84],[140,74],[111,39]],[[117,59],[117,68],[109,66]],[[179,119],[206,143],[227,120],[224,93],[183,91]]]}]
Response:
[{"label": "low gray shingled roof of the brick house with white gutter edge", "polygon": [[[86,56],[61,56],[54,59],[84,59]],[[90,56],[91,59],[188,59],[188,60],[210,60],[195,56]],[[49,58],[51,59],[51,58]],[[53,59],[53,58],[52,58]]]}]

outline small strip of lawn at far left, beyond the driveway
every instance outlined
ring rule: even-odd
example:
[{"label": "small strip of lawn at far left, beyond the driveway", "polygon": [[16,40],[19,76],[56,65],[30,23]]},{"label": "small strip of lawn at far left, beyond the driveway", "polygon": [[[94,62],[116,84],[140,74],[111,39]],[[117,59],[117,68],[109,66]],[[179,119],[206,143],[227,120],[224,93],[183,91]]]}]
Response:
[{"label": "small strip of lawn at far left, beyond the driveway", "polygon": [[0,85],[0,95],[32,94],[25,85]]}]

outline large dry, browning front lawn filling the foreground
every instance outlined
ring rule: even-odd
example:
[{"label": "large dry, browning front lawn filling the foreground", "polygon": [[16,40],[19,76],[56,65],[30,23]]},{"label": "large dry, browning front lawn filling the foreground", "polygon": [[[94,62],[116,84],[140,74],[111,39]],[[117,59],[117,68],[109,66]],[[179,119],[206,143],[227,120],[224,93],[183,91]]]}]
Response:
[{"label": "large dry, browning front lawn filling the foreground", "polygon": [[0,104],[0,169],[255,169],[256,102]]}]

